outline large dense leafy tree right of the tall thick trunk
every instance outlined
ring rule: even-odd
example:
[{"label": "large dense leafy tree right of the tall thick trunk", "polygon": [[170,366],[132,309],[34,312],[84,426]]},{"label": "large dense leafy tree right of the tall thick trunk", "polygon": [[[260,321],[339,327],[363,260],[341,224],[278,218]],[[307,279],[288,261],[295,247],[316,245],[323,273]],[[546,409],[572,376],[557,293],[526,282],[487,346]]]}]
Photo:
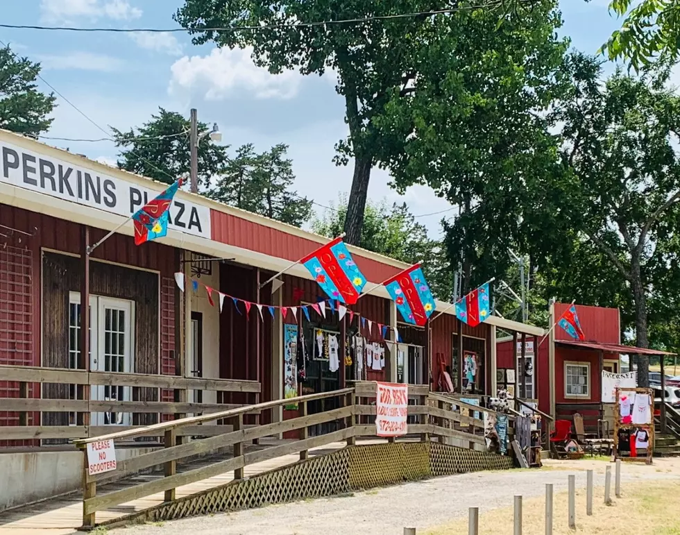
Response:
[{"label": "large dense leafy tree right of the tall thick trunk", "polygon": [[500,26],[483,9],[432,18],[414,37],[423,46],[411,94],[391,94],[373,121],[392,139],[380,157],[395,187],[425,183],[459,207],[445,246],[464,293],[508,269],[509,246],[534,253],[550,233],[550,193],[530,192],[556,167],[546,112],[568,81],[555,6],[533,2]]}]

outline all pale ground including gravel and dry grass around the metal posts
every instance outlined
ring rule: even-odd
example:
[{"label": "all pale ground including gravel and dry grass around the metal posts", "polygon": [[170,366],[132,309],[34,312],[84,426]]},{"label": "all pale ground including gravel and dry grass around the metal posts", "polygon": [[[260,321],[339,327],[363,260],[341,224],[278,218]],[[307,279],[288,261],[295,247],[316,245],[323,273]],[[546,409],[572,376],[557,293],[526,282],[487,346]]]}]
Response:
[{"label": "all pale ground including gravel and dry grass around the metal posts", "polygon": [[[273,505],[262,509],[221,513],[213,516],[186,518],[175,522],[147,524],[114,530],[117,535],[401,535],[404,527],[416,527],[418,534],[457,535],[467,533],[466,519],[468,507],[479,507],[482,527],[495,526],[495,533],[511,532],[511,506],[514,495],[522,495],[525,500],[525,528],[529,524],[542,522],[541,511],[545,484],[554,485],[555,527],[558,519],[566,519],[566,498],[568,475],[576,475],[579,491],[577,498],[577,524],[583,529],[577,532],[593,534],[597,532],[618,532],[604,516],[600,502],[604,500],[604,473],[609,463],[602,460],[584,459],[581,461],[545,461],[542,469],[508,470],[503,472],[481,472],[449,477],[428,479],[423,482],[408,483],[384,489],[353,493],[339,498],[307,500],[292,504]],[[613,465],[612,470],[613,470]],[[586,470],[595,470],[595,514],[593,525],[586,524],[585,486]],[[613,477],[612,477],[613,479]],[[612,481],[613,487],[613,481]],[[639,522],[647,522],[646,516],[654,516],[654,508],[649,503],[656,502],[652,489],[661,489],[658,495],[680,495],[680,459],[654,459],[652,466],[623,464],[622,487],[624,497],[615,500],[613,507],[619,514],[638,511]],[[643,489],[643,492],[640,492]],[[612,489],[613,495],[613,489]],[[583,502],[583,504],[581,504]],[[675,503],[675,502],[674,502]],[[677,516],[675,504],[674,517]],[[563,509],[563,511],[561,510]],[[582,511],[579,513],[579,511]],[[658,514],[659,511],[656,511]],[[658,514],[656,516],[658,516]],[[488,516],[487,516],[488,515]],[[508,516],[510,515],[510,516]],[[540,517],[540,518],[539,518]],[[502,522],[508,529],[498,530]],[[542,524],[540,524],[542,526]],[[640,532],[640,523],[636,533]],[[597,529],[593,528],[597,527]],[[598,527],[599,526],[599,527]],[[122,530],[124,529],[124,533]],[[464,531],[461,531],[464,529]],[[486,533],[480,530],[480,533]],[[488,532],[491,533],[491,532]],[[527,532],[531,535],[533,532]],[[539,533],[539,532],[536,532]],[[544,533],[544,532],[540,532]],[[573,533],[573,531],[571,531]],[[657,532],[650,531],[649,534]],[[658,532],[663,534],[664,532]],[[672,535],[679,532],[668,532]],[[561,532],[555,529],[555,535]]]}]

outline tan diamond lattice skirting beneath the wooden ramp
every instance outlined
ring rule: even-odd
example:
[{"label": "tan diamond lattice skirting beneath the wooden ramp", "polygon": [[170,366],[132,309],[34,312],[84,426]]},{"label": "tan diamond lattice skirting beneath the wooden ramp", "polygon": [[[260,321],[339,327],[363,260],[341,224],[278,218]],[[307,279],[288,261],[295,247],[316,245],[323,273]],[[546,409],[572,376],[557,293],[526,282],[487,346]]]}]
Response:
[{"label": "tan diamond lattice skirting beneath the wooden ramp", "polygon": [[433,475],[508,468],[512,468],[510,457],[435,442],[349,446],[116,518],[112,523],[176,520],[305,498],[323,498]]}]

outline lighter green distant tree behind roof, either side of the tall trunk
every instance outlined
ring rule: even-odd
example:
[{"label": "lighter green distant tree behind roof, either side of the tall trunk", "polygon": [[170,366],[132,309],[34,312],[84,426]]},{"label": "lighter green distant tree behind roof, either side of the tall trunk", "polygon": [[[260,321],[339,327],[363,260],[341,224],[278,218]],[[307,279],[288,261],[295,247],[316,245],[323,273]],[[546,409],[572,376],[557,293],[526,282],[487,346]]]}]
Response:
[{"label": "lighter green distant tree behind roof, either side of the tall trunk", "polygon": [[[345,226],[347,203],[347,196],[341,196],[337,209],[331,207],[312,220],[312,230],[329,238],[339,236]],[[422,260],[432,294],[442,300],[451,299],[452,277],[441,241],[427,236],[427,229],[416,221],[407,205],[369,201],[358,246],[407,264]]]}]

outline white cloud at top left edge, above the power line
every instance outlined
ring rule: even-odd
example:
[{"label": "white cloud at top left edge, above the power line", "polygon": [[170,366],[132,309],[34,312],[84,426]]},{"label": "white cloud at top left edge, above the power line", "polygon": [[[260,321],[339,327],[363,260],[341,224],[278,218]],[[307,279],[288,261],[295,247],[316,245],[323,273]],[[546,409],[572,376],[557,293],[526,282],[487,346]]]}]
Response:
[{"label": "white cloud at top left edge, above the power line", "polygon": [[42,0],[40,13],[44,20],[51,22],[70,21],[79,17],[128,20],[142,16],[142,10],[130,6],[127,0]]}]

